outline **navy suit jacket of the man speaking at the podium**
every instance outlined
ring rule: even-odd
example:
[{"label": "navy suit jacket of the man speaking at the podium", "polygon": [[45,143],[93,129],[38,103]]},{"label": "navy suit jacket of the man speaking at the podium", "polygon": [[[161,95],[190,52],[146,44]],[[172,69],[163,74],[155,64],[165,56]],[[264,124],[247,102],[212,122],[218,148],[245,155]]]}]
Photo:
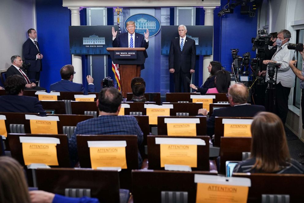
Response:
[{"label": "navy suit jacket of the man speaking at the podium", "polygon": [[[149,47],[149,41],[146,42],[145,37],[142,34],[135,33],[135,40],[134,40],[134,47],[135,48],[146,48]],[[121,33],[116,36],[116,38],[112,41],[113,47],[129,47],[129,40],[128,40],[128,33]],[[146,50],[144,51],[145,57],[148,58],[148,54]],[[142,64],[142,68],[144,69],[145,66]]]}]

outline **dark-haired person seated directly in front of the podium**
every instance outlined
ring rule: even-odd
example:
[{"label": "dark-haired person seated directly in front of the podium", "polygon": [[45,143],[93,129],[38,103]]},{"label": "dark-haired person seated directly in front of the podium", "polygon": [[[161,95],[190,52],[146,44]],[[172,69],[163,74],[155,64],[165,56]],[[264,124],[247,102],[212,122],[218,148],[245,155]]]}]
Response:
[{"label": "dark-haired person seated directly in front of the podium", "polygon": [[133,92],[132,100],[133,102],[145,102],[146,97],[144,96],[146,91],[146,82],[141,77],[135,77],[131,81],[131,88]]}]

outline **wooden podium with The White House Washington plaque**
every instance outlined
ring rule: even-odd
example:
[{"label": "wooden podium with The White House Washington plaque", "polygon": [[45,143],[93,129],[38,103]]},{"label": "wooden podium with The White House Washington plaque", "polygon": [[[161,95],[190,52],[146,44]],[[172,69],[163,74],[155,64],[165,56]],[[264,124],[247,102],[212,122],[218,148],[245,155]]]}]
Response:
[{"label": "wooden podium with The White House Washington plaque", "polygon": [[[132,92],[131,80],[140,76],[141,64],[146,61],[145,48],[127,48],[127,47],[109,47],[107,51],[110,53],[114,64],[119,64],[120,87],[124,98],[127,98],[127,92]],[[128,54],[134,53],[135,54]],[[127,53],[127,54],[118,54]]]}]

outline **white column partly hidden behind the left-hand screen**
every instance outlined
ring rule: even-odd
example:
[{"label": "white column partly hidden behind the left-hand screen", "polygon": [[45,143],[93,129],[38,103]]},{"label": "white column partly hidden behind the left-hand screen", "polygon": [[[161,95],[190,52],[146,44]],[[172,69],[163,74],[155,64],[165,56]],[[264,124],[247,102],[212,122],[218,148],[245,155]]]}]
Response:
[{"label": "white column partly hidden behind the left-hand screen", "polygon": [[[80,10],[82,7],[68,7],[71,10],[71,25],[78,26],[80,25]],[[82,84],[82,60],[81,55],[72,54],[72,65],[74,66],[74,75],[73,82]]]}]

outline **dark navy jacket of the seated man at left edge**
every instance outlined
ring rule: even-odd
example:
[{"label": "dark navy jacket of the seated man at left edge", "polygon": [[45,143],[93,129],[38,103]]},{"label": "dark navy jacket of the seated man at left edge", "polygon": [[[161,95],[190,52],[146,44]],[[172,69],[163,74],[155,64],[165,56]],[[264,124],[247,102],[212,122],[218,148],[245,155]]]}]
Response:
[{"label": "dark navy jacket of the seated man at left edge", "polygon": [[46,115],[37,97],[18,95],[0,96],[0,112],[39,113],[40,116]]}]

